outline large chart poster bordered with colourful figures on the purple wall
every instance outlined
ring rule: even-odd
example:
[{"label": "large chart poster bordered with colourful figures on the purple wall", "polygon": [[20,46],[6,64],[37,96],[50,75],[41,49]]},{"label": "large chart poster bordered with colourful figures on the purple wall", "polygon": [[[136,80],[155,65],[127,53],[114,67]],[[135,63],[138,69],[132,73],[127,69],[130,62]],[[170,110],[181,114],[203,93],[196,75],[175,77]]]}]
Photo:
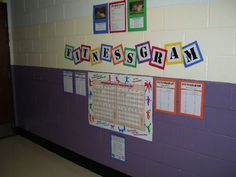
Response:
[{"label": "large chart poster bordered with colourful figures on the purple wall", "polygon": [[89,123],[152,141],[152,77],[88,73]]}]

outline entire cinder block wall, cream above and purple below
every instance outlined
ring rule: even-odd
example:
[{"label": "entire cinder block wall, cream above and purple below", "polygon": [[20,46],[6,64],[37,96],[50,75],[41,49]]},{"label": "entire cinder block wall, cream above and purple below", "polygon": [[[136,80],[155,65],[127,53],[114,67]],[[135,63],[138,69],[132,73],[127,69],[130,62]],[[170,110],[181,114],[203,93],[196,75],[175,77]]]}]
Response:
[{"label": "entire cinder block wall, cream above and purple below", "polygon": [[[94,35],[92,7],[104,2],[10,1],[17,125],[132,176],[235,177],[236,1],[147,0],[147,31]],[[204,62],[162,71],[64,59],[65,44],[134,47],[147,40],[158,47],[197,40]],[[153,142],[127,136],[126,163],[112,161],[111,132],[88,125],[87,98],[63,93],[64,69],[203,80],[204,119],[154,113]]]}]

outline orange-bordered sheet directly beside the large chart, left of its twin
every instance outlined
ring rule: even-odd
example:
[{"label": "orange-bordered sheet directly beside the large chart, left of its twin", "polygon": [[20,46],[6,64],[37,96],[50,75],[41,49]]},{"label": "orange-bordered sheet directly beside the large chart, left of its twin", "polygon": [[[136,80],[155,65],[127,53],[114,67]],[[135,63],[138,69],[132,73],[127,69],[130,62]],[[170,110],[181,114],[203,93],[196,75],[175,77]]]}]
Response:
[{"label": "orange-bordered sheet directly beside the large chart, left of its twin", "polygon": [[156,78],[155,111],[176,113],[176,80]]}]

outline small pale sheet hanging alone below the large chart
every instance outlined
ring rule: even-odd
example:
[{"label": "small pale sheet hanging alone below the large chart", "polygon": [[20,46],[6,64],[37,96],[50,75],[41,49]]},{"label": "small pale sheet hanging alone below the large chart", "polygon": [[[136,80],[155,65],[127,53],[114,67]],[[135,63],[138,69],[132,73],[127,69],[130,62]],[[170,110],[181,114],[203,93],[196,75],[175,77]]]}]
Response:
[{"label": "small pale sheet hanging alone below the large chart", "polygon": [[125,138],[111,135],[111,157],[125,162]]}]

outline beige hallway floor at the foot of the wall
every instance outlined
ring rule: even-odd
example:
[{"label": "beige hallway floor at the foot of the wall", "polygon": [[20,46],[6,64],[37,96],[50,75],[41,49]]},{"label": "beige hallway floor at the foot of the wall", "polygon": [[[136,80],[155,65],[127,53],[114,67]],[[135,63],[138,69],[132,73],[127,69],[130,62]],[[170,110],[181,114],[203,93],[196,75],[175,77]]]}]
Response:
[{"label": "beige hallway floor at the foot of the wall", "polygon": [[98,177],[55,153],[21,137],[0,139],[2,177]]}]

